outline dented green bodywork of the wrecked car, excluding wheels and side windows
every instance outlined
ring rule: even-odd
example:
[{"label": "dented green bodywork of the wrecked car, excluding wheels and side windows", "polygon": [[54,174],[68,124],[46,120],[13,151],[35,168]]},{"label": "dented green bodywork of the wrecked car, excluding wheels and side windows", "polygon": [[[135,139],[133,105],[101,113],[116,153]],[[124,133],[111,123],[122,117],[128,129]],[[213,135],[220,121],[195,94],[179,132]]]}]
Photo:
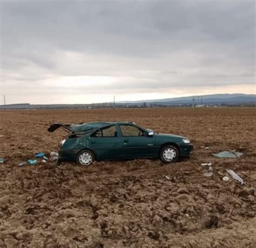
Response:
[{"label": "dented green bodywork of the wrecked car, excluding wheels and side windows", "polygon": [[[121,130],[123,125],[137,127],[142,131],[143,136],[124,137]],[[76,160],[78,152],[84,149],[89,149],[95,153],[96,160],[157,158],[161,148],[166,145],[176,146],[182,157],[189,157],[193,150],[192,144],[184,143],[185,137],[164,133],[149,135],[152,130],[144,129],[130,122],[94,122],[64,126],[65,129],[68,128],[71,131],[71,134],[59,151],[60,159],[63,160]],[[96,132],[110,126],[116,126],[114,137],[95,137]],[[50,132],[63,126],[57,123],[51,127],[51,130],[48,129]]]}]

